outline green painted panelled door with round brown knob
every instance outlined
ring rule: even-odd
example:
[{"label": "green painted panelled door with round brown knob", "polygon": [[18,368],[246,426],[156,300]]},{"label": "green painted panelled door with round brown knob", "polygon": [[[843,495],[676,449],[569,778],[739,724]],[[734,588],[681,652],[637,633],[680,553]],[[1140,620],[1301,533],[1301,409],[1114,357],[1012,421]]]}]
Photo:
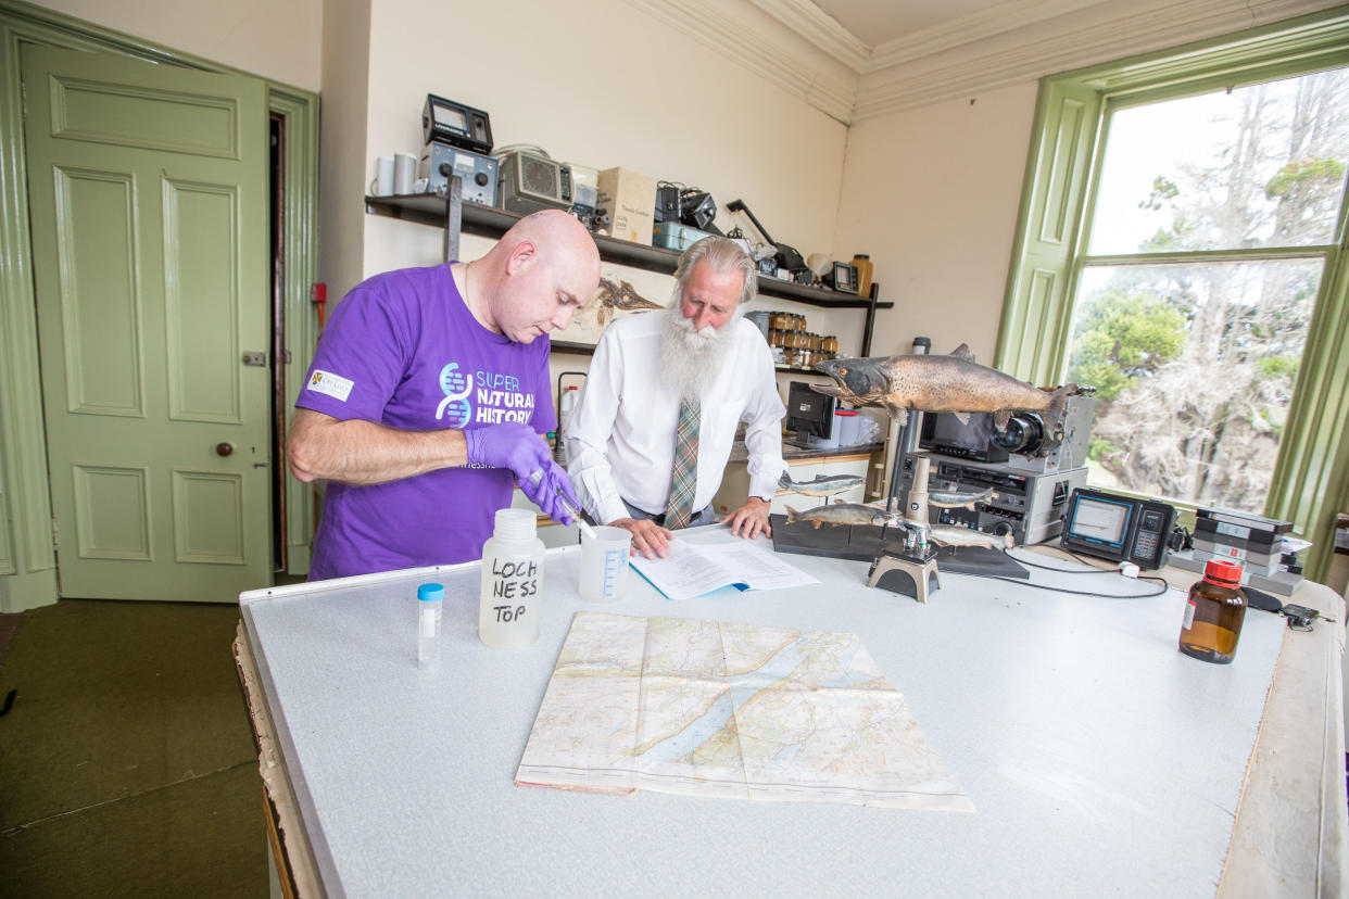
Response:
[{"label": "green painted panelled door with round brown knob", "polygon": [[61,594],[232,602],[271,582],[266,86],[22,65]]}]

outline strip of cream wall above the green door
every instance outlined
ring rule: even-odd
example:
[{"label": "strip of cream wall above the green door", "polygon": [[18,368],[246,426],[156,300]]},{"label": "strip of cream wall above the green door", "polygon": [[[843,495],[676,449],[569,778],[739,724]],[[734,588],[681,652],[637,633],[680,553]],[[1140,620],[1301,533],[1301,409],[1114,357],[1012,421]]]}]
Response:
[{"label": "strip of cream wall above the green door", "polygon": [[38,5],[294,88],[320,86],[324,0],[39,0]]}]

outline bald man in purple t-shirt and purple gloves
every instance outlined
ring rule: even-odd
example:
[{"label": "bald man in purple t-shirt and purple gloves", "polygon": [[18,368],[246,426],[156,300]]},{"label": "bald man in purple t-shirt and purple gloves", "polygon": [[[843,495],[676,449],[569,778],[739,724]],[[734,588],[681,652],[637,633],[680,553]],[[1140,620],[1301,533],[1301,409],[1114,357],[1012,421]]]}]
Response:
[{"label": "bald man in purple t-shirt and purple gloves", "polygon": [[[356,286],[295,400],[287,456],[329,481],[309,580],[482,558],[513,483],[569,523],[548,332],[599,284],[590,233],[563,212],[515,224],[482,259]],[[542,340],[540,340],[542,338]],[[530,476],[540,473],[537,484]]]}]

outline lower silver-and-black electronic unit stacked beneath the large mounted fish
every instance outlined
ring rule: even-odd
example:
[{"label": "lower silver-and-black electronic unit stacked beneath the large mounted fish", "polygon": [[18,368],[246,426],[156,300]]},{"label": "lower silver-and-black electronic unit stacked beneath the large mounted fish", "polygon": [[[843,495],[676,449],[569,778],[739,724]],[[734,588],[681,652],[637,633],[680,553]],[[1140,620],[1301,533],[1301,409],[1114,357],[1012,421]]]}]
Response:
[{"label": "lower silver-and-black electronic unit stacked beneath the large mounted fish", "polygon": [[[913,483],[913,456],[904,460],[901,489]],[[1072,491],[1086,487],[1086,466],[1050,474],[1020,472],[1006,465],[963,462],[932,457],[928,472],[928,495],[979,493],[996,495],[973,507],[931,508],[932,524],[969,527],[985,534],[1010,534],[1017,546],[1041,543],[1059,535],[1063,507]]]}]

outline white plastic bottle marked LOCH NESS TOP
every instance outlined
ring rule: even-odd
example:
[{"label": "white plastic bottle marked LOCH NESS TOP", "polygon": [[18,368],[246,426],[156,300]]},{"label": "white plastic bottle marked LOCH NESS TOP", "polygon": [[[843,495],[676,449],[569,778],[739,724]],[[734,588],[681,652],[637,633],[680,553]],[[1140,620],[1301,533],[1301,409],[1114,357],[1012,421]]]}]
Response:
[{"label": "white plastic bottle marked LOCH NESS TOP", "polygon": [[542,585],[544,542],[536,535],[534,512],[496,509],[495,530],[483,543],[478,638],[494,650],[537,643]]}]

